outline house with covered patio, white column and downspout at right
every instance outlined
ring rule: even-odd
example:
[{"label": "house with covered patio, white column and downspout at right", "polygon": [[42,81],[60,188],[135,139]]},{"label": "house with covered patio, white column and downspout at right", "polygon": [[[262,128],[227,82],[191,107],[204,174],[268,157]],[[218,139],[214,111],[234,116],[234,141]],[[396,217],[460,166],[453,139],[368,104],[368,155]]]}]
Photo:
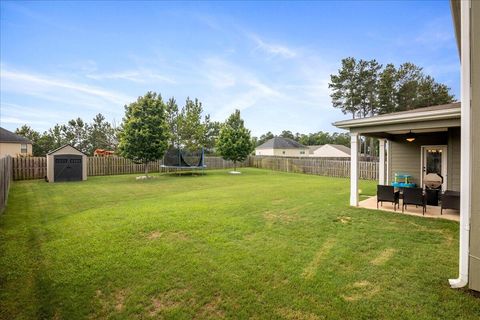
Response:
[{"label": "house with covered patio, white column and downspout at right", "polygon": [[[480,1],[451,0],[461,61],[461,104],[336,122],[351,133],[350,204],[358,206],[359,135],[379,139],[379,184],[395,172],[419,186],[428,172],[460,191],[459,276],[452,288],[480,291]],[[474,41],[475,40],[475,41]],[[460,130],[461,128],[461,130]],[[386,156],[385,156],[386,154]]]}]

